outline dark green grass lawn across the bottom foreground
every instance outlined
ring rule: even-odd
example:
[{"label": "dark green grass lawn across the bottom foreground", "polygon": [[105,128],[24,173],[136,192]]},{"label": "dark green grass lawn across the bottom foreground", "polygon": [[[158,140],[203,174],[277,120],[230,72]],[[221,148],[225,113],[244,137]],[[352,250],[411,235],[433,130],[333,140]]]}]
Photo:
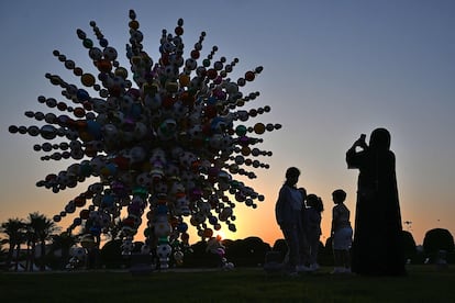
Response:
[{"label": "dark green grass lawn across the bottom foreground", "polygon": [[455,269],[412,266],[407,277],[298,277],[262,269],[0,273],[0,302],[455,302]]}]

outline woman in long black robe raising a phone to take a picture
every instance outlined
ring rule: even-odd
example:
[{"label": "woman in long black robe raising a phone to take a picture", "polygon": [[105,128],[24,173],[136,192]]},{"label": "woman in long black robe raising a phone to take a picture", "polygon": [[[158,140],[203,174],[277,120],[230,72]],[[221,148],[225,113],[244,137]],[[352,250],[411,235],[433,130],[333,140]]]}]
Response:
[{"label": "woman in long black robe raising a phone to take a picture", "polygon": [[359,170],[352,251],[352,271],[359,274],[406,274],[395,154],[389,148],[389,132],[377,128],[369,146],[362,135],[346,153],[347,167]]}]

